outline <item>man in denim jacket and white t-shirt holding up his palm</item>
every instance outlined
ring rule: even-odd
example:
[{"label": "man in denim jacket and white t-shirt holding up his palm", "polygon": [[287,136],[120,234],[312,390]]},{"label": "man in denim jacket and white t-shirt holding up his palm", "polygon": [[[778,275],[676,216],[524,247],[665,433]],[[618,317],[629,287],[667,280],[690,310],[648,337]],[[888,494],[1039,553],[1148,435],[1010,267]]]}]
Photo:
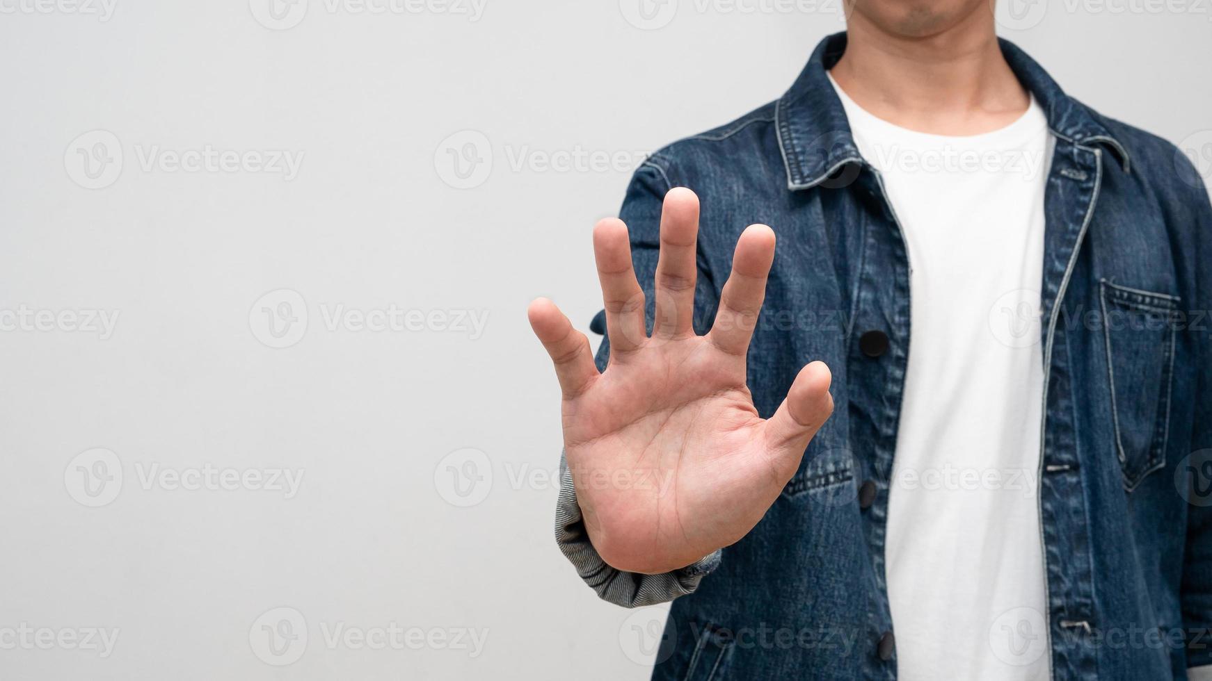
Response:
[{"label": "man in denim jacket and white t-shirt holding up his palm", "polygon": [[989,0],[851,8],[596,226],[596,365],[531,305],[561,549],[606,600],[674,601],[653,679],[1212,665],[1195,171],[999,42]]}]

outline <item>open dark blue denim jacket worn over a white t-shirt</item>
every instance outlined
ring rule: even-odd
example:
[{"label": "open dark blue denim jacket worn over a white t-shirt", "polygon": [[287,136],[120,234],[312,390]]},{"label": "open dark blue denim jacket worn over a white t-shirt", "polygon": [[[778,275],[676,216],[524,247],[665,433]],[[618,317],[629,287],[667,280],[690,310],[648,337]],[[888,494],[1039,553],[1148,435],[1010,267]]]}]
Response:
[{"label": "open dark blue denim jacket worn over a white t-shirt", "polygon": [[[629,607],[673,600],[656,680],[897,674],[884,547],[910,262],[827,80],[845,46],[845,34],[827,37],[781,99],[652,155],[623,204],[651,321],[662,197],[674,186],[701,197],[701,334],[741,231],[771,225],[778,248],[748,354],[754,404],[771,416],[821,359],[837,405],[747,537],[667,575],[602,562],[565,467],[556,535],[585,582]],[[1042,307],[1022,325],[1044,351],[1047,612],[1007,613],[990,654],[1040,641],[1053,679],[1185,679],[1212,664],[1212,207],[1172,144],[1094,112],[1001,47],[1057,142]],[[604,324],[599,314],[591,328]],[[887,336],[879,352],[859,342],[871,331]],[[599,368],[608,352],[604,340]],[[944,588],[922,584],[921,598]]]}]

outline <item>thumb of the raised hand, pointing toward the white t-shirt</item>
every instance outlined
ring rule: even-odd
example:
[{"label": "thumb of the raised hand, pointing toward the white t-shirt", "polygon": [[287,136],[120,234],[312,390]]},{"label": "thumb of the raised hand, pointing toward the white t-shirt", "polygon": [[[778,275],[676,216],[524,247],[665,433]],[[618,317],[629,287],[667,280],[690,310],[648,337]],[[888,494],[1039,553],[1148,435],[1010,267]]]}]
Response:
[{"label": "thumb of the raised hand, pointing toward the white t-shirt", "polygon": [[833,414],[829,383],[833,376],[823,362],[800,369],[787,399],[766,421],[765,437],[772,455],[799,466],[804,449]]}]

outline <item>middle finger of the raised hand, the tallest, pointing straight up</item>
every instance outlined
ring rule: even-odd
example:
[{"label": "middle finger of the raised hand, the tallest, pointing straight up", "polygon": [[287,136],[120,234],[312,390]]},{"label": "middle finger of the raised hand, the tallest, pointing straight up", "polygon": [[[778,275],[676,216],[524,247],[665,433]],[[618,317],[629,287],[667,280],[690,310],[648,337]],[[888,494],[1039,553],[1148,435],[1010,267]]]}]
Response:
[{"label": "middle finger of the raised hand, the tallest, pointing straight up", "polygon": [[698,196],[686,187],[665,195],[661,210],[661,255],[657,258],[656,319],[652,335],[694,333],[694,281],[698,277]]}]

